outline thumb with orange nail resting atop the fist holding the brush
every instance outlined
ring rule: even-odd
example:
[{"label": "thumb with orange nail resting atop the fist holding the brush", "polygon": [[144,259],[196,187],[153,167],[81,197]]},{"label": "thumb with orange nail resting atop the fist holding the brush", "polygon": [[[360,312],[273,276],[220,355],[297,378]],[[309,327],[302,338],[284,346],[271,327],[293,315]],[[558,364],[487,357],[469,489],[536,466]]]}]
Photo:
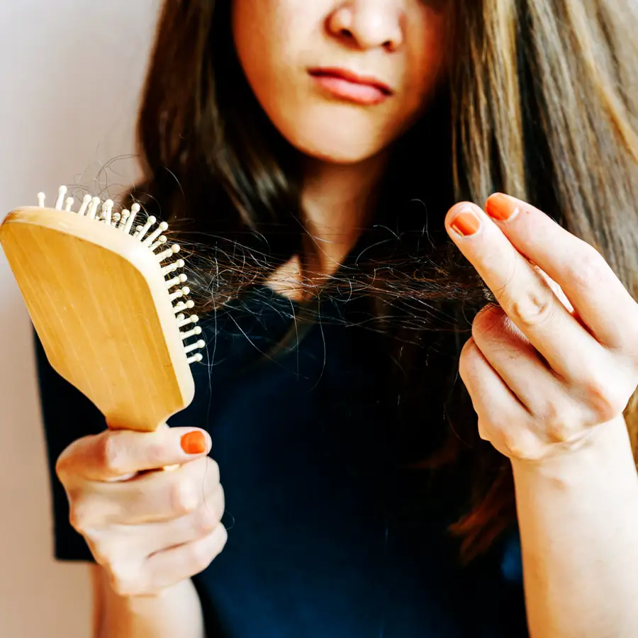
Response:
[{"label": "thumb with orange nail resting atop the fist holding the brush", "polygon": [[208,454],[211,437],[194,427],[155,432],[105,430],[73,442],[57,461],[58,476],[113,481],[136,472],[160,469]]}]

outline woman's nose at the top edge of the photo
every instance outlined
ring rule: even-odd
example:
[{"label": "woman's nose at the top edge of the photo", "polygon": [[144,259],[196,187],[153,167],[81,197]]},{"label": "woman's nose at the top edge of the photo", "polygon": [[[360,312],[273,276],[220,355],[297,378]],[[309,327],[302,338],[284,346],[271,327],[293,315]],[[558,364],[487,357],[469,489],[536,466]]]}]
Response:
[{"label": "woman's nose at the top edge of the photo", "polygon": [[335,38],[360,49],[403,45],[402,0],[347,0],[330,13],[328,30]]}]

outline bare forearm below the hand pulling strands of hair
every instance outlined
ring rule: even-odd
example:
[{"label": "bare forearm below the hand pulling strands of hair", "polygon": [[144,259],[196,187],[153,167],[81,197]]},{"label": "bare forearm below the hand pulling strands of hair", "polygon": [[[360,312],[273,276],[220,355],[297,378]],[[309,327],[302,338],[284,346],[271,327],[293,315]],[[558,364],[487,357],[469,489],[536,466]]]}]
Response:
[{"label": "bare forearm below the hand pulling strands of hair", "polygon": [[624,420],[569,457],[513,471],[532,638],[638,636],[638,474]]}]

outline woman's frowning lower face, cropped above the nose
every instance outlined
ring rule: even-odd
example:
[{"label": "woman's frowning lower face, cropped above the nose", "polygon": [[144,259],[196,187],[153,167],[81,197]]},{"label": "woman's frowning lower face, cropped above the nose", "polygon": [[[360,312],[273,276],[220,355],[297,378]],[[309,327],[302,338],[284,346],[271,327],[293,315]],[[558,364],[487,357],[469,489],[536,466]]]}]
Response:
[{"label": "woman's frowning lower face, cropped above the nose", "polygon": [[237,55],[284,138],[328,162],[376,155],[444,72],[441,0],[233,0]]}]

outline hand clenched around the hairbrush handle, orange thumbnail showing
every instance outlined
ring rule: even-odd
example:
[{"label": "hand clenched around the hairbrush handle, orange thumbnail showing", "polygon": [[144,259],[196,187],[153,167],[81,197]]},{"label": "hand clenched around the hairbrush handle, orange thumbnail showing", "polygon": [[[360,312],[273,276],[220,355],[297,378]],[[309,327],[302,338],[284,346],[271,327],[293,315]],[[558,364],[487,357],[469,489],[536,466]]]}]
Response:
[{"label": "hand clenched around the hairbrush handle, orange thumbnail showing", "polygon": [[224,493],[210,449],[203,430],[167,427],[105,430],[60,454],[56,472],[71,525],[119,595],[157,595],[223,549]]}]

